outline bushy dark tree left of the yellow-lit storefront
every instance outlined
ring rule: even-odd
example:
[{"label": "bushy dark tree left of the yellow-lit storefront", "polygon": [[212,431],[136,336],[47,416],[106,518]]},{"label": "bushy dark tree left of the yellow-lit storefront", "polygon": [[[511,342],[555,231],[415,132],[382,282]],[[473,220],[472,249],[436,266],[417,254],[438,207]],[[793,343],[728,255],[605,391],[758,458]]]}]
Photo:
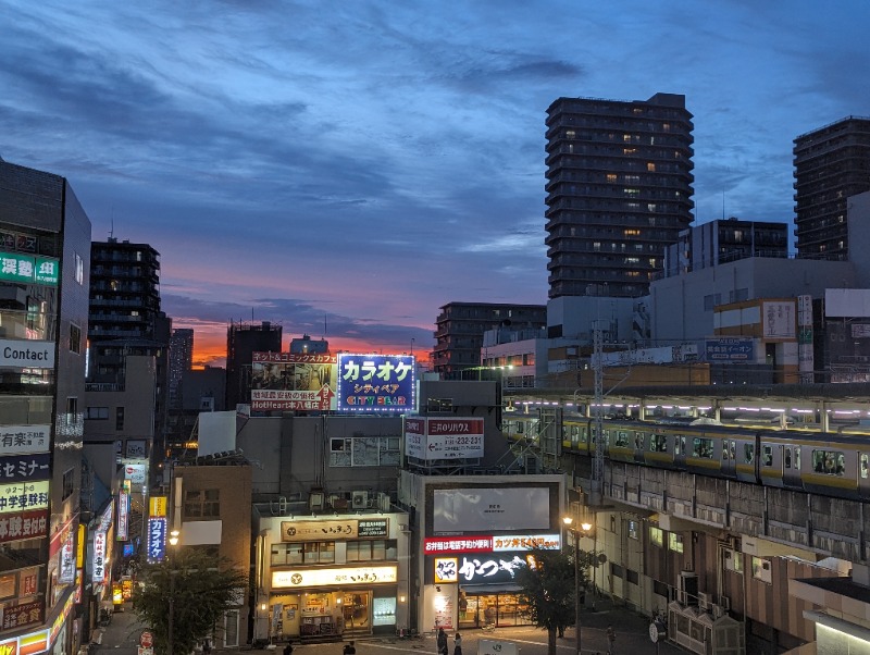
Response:
[{"label": "bushy dark tree left of the yellow-lit storefront", "polygon": [[178,548],[172,559],[140,568],[133,607],[150,629],[157,653],[186,655],[212,633],[247,589],[247,572],[232,568],[228,560]]}]

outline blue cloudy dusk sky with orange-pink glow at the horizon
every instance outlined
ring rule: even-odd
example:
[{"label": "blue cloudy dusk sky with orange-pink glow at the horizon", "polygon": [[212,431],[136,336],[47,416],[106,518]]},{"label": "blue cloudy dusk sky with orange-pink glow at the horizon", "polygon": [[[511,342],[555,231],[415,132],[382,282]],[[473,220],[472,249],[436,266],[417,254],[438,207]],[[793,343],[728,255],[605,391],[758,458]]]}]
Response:
[{"label": "blue cloudy dusk sky with orange-pink glow at the horizon", "polygon": [[[792,222],[793,139],[870,115],[867,0],[0,0],[0,157],[148,243],[176,328],[434,345],[546,304],[556,98],[683,94],[695,219]],[[724,206],[724,207],[723,207]]]}]

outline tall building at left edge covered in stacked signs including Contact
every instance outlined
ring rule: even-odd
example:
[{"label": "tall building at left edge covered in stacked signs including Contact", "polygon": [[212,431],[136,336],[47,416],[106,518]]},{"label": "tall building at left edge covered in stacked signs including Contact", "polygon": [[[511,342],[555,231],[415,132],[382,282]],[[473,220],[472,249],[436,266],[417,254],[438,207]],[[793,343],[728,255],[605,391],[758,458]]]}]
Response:
[{"label": "tall building at left edge covered in stacked signs including Contact", "polygon": [[[76,653],[90,221],[70,183],[0,160],[0,642]],[[26,491],[25,491],[26,490]],[[77,591],[83,597],[76,598]]]}]

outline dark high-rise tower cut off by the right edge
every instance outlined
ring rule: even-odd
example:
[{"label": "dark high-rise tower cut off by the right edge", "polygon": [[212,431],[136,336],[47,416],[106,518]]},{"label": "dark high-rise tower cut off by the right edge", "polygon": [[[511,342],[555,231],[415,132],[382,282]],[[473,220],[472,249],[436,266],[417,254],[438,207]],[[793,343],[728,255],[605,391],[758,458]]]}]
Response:
[{"label": "dark high-rise tower cut off by the right edge", "polygon": [[870,119],[849,116],[795,141],[798,257],[848,260],[848,199],[870,190]]}]

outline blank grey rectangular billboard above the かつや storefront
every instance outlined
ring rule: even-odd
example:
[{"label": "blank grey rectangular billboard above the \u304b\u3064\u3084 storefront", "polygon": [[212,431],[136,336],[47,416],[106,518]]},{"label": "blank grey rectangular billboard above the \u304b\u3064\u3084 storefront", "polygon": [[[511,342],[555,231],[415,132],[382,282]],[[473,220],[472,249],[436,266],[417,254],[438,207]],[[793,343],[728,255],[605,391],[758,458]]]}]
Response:
[{"label": "blank grey rectangular billboard above the \u304b\u3064\u3084 storefront", "polygon": [[436,489],[433,500],[436,533],[550,528],[550,490],[545,486]]}]

